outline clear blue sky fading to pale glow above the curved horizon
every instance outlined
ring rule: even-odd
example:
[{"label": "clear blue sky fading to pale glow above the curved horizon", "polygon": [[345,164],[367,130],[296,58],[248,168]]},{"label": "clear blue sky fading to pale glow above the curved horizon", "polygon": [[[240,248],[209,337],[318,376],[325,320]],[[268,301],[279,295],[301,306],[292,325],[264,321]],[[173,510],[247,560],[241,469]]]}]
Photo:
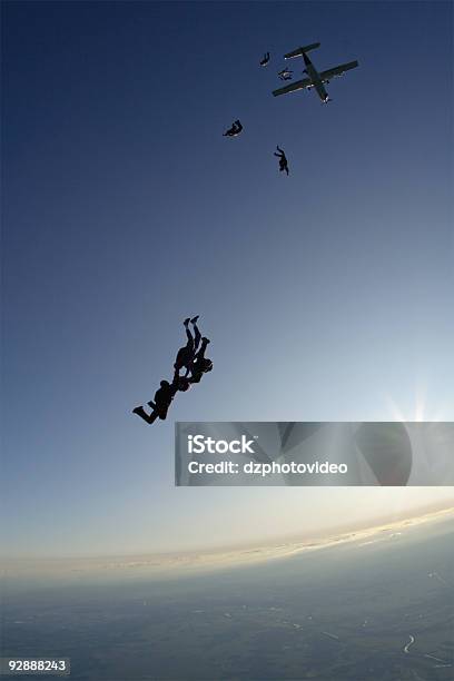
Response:
[{"label": "clear blue sky fading to pale glow above the curved horizon", "polygon": [[[452,499],[172,486],[176,420],[454,418],[452,3],[2,13],[7,552],[260,541]],[[274,98],[314,41],[319,69],[359,68],[327,106]],[[146,426],[130,409],[195,314],[215,368]]]}]

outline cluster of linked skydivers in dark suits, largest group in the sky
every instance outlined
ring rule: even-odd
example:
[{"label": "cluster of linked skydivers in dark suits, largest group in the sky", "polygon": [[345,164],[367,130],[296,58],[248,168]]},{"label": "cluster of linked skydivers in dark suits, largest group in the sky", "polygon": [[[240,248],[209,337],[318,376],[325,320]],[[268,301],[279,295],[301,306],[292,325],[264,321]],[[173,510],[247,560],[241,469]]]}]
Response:
[{"label": "cluster of linked skydivers in dark suits, largest group in the sky", "polygon": [[[146,423],[155,423],[157,418],[165,421],[175,395],[178,392],[186,393],[194,383],[200,383],[204,374],[213,369],[211,359],[205,357],[210,340],[201,336],[197,326],[198,317],[198,315],[193,318],[187,317],[182,323],[186,332],[186,345],[177,352],[172,382],[161,381],[154,399],[148,402],[151,412],[147,414],[142,405],[132,409],[132,414],[137,414]],[[189,324],[193,325],[194,334],[189,328]],[[185,369],[185,374],[180,375],[182,369]]]}]

